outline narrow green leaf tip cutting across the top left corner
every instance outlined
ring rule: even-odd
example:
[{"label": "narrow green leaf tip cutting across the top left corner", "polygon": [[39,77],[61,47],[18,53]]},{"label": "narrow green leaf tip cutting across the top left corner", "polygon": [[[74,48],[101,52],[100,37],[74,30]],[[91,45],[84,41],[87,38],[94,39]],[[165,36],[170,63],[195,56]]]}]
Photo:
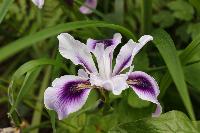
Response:
[{"label": "narrow green leaf tip cutting across the top left corner", "polygon": [[3,21],[3,18],[5,17],[8,9],[13,1],[14,0],[3,0],[1,7],[0,7],[0,24]]}]

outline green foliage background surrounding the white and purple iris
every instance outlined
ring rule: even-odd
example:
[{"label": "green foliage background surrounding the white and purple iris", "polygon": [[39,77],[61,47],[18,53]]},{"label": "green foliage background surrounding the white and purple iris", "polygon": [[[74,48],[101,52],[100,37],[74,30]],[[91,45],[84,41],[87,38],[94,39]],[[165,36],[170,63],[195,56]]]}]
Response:
[{"label": "green foliage background surrounding the white and purple iris", "polygon": [[[99,0],[91,15],[79,12],[83,2],[75,0],[72,6],[66,0],[45,0],[40,10],[31,0],[0,0],[0,128],[27,133],[200,132],[200,1]],[[79,68],[59,54],[56,36],[61,32],[82,42],[120,32],[120,47],[152,35],[151,44],[135,57],[134,70],[157,80],[163,115],[151,118],[155,105],[131,89],[109,94],[109,105],[99,107],[100,95],[93,90],[80,111],[59,121],[44,108],[44,90],[56,77],[76,74]]]}]

